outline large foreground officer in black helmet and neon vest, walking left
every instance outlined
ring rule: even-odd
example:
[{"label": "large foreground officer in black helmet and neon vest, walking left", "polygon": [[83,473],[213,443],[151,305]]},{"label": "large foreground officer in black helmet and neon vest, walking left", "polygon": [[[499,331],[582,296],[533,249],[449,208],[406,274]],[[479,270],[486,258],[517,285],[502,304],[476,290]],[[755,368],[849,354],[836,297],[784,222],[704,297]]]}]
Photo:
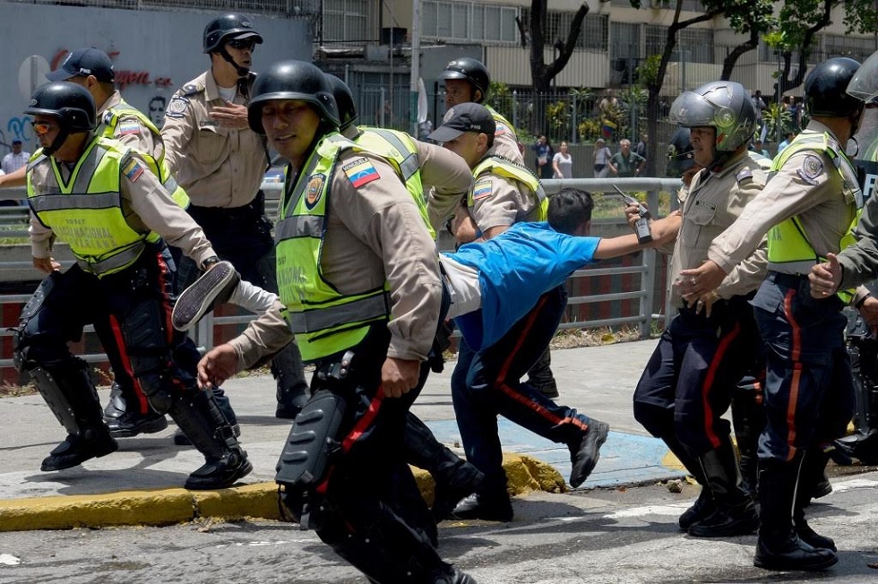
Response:
[{"label": "large foreground officer in black helmet and neon vest, walking left", "polygon": [[[306,487],[308,524],[371,580],[473,582],[432,545],[435,522],[400,449],[443,316],[435,244],[418,203],[392,165],[337,132],[335,99],[314,65],[271,65],[254,84],[249,114],[290,161],[275,228],[289,325],[279,303],[244,335],[211,349],[200,379],[212,383],[252,365],[292,330],[315,367],[306,411],[324,398],[344,405],[328,473],[299,473],[310,455],[281,456],[288,500]],[[291,436],[308,419],[303,412]]]}]

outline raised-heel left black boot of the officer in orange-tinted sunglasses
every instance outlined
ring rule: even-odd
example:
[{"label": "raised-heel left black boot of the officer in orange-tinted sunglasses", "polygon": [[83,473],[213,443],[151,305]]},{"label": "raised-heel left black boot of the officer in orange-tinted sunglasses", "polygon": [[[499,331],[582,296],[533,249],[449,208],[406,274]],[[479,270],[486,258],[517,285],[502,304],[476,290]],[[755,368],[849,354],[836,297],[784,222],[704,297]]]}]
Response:
[{"label": "raised-heel left black boot of the officer in orange-tinted sunglasses", "polygon": [[47,406],[65,426],[67,437],[43,459],[42,471],[63,470],[115,452],[119,445],[101,418],[98,392],[85,362],[34,367],[31,380]]}]

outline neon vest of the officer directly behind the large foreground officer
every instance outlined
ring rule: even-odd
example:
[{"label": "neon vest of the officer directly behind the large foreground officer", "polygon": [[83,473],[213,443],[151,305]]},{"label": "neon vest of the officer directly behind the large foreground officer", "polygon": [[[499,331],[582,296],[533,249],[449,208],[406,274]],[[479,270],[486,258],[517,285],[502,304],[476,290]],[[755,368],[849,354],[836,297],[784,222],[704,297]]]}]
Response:
[{"label": "neon vest of the officer directly behind the large foreground officer", "polygon": [[360,128],[360,134],[354,140],[358,146],[366,148],[385,159],[402,182],[405,183],[412,200],[417,204],[417,211],[424,219],[427,231],[435,240],[436,232],[430,225],[430,216],[426,210],[426,193],[421,183],[420,161],[417,159],[417,145],[411,137],[396,130],[384,128]]}]

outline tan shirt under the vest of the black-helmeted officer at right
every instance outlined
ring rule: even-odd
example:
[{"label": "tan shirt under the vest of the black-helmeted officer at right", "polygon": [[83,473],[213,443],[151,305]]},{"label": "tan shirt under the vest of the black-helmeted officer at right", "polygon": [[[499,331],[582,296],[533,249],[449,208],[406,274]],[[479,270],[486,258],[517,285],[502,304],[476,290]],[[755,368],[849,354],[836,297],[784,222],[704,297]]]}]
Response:
[{"label": "tan shirt under the vest of the black-helmeted officer at right", "polygon": [[[829,128],[812,120],[805,132],[823,133]],[[729,272],[753,252],[770,228],[796,215],[816,253],[822,257],[838,253],[855,215],[853,199],[846,200],[844,193],[842,178],[825,153],[796,152],[714,240],[708,257]]]}]

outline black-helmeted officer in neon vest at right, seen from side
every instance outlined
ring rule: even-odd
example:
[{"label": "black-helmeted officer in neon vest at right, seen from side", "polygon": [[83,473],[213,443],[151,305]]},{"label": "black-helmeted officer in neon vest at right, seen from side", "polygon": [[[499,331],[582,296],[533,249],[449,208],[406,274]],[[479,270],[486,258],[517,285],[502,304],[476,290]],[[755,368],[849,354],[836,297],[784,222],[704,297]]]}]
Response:
[{"label": "black-helmeted officer in neon vest at right, seen from side", "polygon": [[834,542],[814,533],[804,509],[826,464],[822,444],[843,435],[853,413],[847,319],[828,288],[815,288],[820,299],[811,296],[807,274],[848,245],[863,204],[845,154],[864,110],[863,101],[845,93],[858,67],[839,57],[808,74],[805,132],[774,159],[776,174],[714,239],[708,261],[681,272],[683,297],[702,296],[769,235],[769,273],[752,301],[767,370],[753,563],[769,570],[821,570],[838,561]]}]

